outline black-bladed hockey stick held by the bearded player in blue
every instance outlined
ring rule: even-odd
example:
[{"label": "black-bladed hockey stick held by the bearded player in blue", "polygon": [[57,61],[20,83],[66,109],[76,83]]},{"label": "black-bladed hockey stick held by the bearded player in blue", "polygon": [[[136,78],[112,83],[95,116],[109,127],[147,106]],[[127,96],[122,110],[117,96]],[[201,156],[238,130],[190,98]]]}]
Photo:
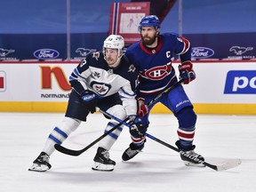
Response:
[{"label": "black-bladed hockey stick held by the bearded player in blue", "polygon": [[[159,93],[156,98],[154,98],[153,100],[150,100],[150,102],[148,103],[148,106],[152,105],[154,102],[156,102],[156,100],[158,100],[159,98],[161,98],[164,94],[170,92],[171,90],[173,90],[175,87],[179,86],[180,84],[183,83],[184,80],[180,80],[179,82],[177,82],[176,84],[173,84],[171,87],[169,87],[168,89],[164,90],[164,92]],[[102,110],[100,110],[101,113],[104,114],[104,112]],[[107,113],[107,112],[106,112]],[[86,146],[85,148],[82,148],[80,150],[73,150],[73,149],[69,149],[69,148],[65,148],[61,145],[55,144],[54,148],[58,151],[60,151],[63,154],[67,154],[69,156],[80,156],[82,153],[84,153],[84,151],[86,151],[88,148],[91,148],[94,144],[96,144],[97,142],[99,142],[100,140],[102,140],[103,138],[105,138],[110,132],[114,132],[120,125],[122,125],[124,122],[126,124],[126,121],[129,119],[129,117],[127,117],[126,119],[124,119],[124,121],[119,122],[119,124],[116,124],[116,126],[114,126],[112,129],[108,130],[108,132],[105,132],[103,135],[101,135],[97,140],[92,141],[91,144],[89,144],[88,146]]]}]

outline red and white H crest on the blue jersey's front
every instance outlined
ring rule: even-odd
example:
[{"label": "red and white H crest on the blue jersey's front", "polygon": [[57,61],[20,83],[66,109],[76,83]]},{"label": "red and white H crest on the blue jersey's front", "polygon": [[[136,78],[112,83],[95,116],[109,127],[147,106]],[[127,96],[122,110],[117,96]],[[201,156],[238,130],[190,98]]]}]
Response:
[{"label": "red and white H crest on the blue jersey's front", "polygon": [[172,63],[170,62],[164,66],[149,68],[144,72],[140,72],[140,75],[150,80],[161,80],[161,79],[164,79],[165,76],[168,76],[171,72],[172,72]]}]

